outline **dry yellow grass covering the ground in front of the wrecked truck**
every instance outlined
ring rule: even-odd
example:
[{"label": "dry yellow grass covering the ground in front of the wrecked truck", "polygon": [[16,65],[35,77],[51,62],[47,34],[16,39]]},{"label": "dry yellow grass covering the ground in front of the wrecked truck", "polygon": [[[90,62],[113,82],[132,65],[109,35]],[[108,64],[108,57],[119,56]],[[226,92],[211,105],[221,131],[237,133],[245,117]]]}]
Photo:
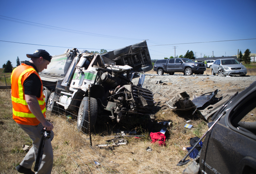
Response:
[{"label": "dry yellow grass covering the ground in front of the wrecked truck", "polygon": [[[21,162],[26,152],[22,145],[32,145],[31,139],[12,120],[12,105],[10,90],[0,90],[0,173],[17,173],[14,167]],[[78,133],[76,123],[69,123],[65,117],[50,115],[47,119],[54,125],[52,141],[54,164],[52,173],[181,173],[188,165],[176,166],[184,157],[189,138],[202,136],[207,130],[206,123],[194,118],[191,113],[176,112],[162,107],[156,113],[156,121],[171,121],[166,135],[166,146],[151,144],[150,136],[140,127],[132,127],[144,134],[140,139],[127,137],[127,145],[114,149],[99,149],[95,145],[104,144],[111,139],[105,136],[113,135],[117,128],[127,130],[127,125],[98,122],[92,135],[93,146],[89,146],[88,136]],[[193,129],[183,126],[186,120],[191,120]],[[97,128],[98,127],[98,128]],[[163,126],[155,125],[154,131],[160,131]],[[104,138],[105,137],[105,138]],[[151,146],[153,151],[146,152]],[[101,165],[96,166],[94,161]],[[77,167],[76,163],[79,165]]]}]

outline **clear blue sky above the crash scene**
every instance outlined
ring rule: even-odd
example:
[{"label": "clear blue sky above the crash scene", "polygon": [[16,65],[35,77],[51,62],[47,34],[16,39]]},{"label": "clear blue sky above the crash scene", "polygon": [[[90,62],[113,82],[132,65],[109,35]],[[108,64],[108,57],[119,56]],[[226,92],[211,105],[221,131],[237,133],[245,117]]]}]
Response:
[{"label": "clear blue sky above the crash scene", "polygon": [[[256,1],[4,1],[1,2],[0,40],[88,50],[129,46],[144,39],[149,46],[256,38]],[[115,39],[36,27],[4,19],[29,22],[115,37]],[[15,20],[17,21],[17,20]],[[26,23],[29,23],[26,22]],[[32,23],[30,23],[32,24]],[[45,26],[46,27],[46,26]],[[135,40],[136,39],[136,40]],[[230,42],[149,47],[151,59],[184,55],[232,56],[249,48],[256,53],[256,39]],[[45,49],[51,55],[67,48],[0,42],[0,67],[7,60],[29,60],[26,54]],[[94,48],[94,49],[89,49]],[[240,51],[240,50],[239,50]]]}]

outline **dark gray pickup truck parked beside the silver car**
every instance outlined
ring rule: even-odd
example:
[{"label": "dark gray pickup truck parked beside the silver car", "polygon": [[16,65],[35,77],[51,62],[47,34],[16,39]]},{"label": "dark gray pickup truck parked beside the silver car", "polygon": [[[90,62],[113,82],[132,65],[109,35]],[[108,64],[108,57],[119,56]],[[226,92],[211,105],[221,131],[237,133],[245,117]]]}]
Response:
[{"label": "dark gray pickup truck parked beside the silver car", "polygon": [[193,62],[187,58],[162,59],[154,64],[154,71],[157,71],[158,75],[163,75],[164,72],[170,75],[175,72],[183,72],[184,75],[203,74],[205,70],[203,63]]}]

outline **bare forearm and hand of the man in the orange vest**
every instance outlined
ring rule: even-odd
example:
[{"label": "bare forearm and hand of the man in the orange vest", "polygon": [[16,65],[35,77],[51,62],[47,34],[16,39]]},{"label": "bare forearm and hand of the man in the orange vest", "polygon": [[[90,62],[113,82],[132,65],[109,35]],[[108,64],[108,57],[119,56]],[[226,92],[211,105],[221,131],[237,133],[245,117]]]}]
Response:
[{"label": "bare forearm and hand of the man in the orange vest", "polygon": [[44,118],[36,96],[25,94],[25,100],[29,106],[29,110],[34,114],[36,119],[46,127],[46,130],[53,130],[53,124],[46,121]]}]

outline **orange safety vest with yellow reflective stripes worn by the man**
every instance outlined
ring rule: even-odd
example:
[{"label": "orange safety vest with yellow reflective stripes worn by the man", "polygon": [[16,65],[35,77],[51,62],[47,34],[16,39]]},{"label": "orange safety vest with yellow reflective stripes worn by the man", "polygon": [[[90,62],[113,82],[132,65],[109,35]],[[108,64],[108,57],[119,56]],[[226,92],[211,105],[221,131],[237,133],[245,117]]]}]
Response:
[{"label": "orange safety vest with yellow reflective stripes worn by the man", "polygon": [[[21,64],[15,68],[11,73],[11,102],[12,102],[12,118],[13,120],[22,125],[36,126],[40,122],[36,119],[34,114],[29,110],[29,106],[25,100],[24,94],[24,81],[32,74],[35,73],[38,77],[36,70],[29,65]],[[39,77],[40,81],[41,78]],[[42,81],[41,81],[42,83]],[[40,98],[37,98],[41,111],[45,117],[45,100],[42,92],[43,85],[41,86]]]}]

